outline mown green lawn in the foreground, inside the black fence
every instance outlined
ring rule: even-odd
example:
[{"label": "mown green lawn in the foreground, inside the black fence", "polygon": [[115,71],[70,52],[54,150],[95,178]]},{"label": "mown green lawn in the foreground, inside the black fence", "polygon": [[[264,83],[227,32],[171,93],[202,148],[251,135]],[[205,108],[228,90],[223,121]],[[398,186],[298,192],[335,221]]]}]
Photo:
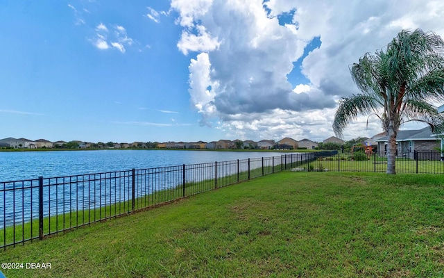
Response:
[{"label": "mown green lawn in the foreground, inside the black fence", "polygon": [[6,277],[444,277],[444,176],[282,172],[0,252]]}]

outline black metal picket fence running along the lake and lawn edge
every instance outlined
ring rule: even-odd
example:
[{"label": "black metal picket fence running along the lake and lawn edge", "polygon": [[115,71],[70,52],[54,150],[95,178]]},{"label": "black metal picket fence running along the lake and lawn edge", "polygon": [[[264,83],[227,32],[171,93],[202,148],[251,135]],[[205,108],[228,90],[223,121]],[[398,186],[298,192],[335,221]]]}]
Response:
[{"label": "black metal picket fence running along the lake and lawn edge", "polygon": [[[439,153],[411,157],[397,172],[444,173]],[[0,182],[0,248],[284,170],[385,172],[386,158],[314,152]]]}]

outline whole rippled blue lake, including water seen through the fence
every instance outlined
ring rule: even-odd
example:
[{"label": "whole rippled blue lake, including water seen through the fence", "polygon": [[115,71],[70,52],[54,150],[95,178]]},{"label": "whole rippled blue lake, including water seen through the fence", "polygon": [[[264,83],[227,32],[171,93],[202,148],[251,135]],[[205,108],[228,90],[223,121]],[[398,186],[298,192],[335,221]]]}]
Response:
[{"label": "whole rippled blue lake, including water seen through the fence", "polygon": [[[47,217],[79,209],[95,211],[132,199],[132,174],[128,170],[133,168],[140,170],[131,176],[137,180],[133,180],[137,198],[174,188],[185,177],[187,182],[195,182],[262,167],[261,157],[281,154],[179,150],[0,152],[0,229],[38,217],[38,177],[44,177],[41,196],[43,216]],[[259,159],[253,159],[250,165],[245,163],[248,158]],[[244,163],[221,163],[238,159]],[[273,165],[281,162],[279,158],[272,161]],[[217,167],[214,162],[218,162]],[[186,170],[180,167],[184,164],[188,165]]]}]

